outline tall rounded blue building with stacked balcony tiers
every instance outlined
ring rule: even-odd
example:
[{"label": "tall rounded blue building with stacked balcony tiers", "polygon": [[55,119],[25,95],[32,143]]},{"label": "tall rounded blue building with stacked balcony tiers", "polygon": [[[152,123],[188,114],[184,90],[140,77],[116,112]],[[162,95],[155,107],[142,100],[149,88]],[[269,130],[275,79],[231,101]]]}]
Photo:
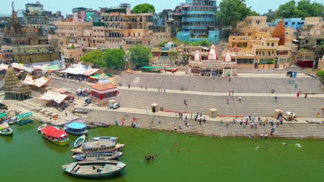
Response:
[{"label": "tall rounded blue building with stacked balcony tiers", "polygon": [[217,5],[215,0],[186,0],[182,6],[181,41],[219,42],[220,30],[216,29]]}]

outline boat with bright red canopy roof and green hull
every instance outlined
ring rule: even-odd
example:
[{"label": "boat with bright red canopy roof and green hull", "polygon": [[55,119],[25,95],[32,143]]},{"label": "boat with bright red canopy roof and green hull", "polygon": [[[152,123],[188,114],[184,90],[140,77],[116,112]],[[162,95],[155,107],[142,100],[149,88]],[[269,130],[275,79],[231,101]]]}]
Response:
[{"label": "boat with bright red canopy roof and green hull", "polygon": [[67,133],[54,126],[48,125],[43,130],[41,130],[41,132],[45,139],[48,139],[53,143],[56,143],[58,145],[69,144],[69,137],[67,136]]}]

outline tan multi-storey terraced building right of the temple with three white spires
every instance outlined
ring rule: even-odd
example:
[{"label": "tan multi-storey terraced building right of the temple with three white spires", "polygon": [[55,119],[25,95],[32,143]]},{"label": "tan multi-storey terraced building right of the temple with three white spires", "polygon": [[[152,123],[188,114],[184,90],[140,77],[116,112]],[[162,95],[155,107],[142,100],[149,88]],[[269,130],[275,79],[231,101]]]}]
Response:
[{"label": "tan multi-storey terraced building right of the temple with three white spires", "polygon": [[[283,21],[276,28],[267,26],[267,17],[246,17],[228,37],[228,48],[237,68],[285,68],[292,59],[294,30]],[[224,51],[227,51],[224,50]]]}]

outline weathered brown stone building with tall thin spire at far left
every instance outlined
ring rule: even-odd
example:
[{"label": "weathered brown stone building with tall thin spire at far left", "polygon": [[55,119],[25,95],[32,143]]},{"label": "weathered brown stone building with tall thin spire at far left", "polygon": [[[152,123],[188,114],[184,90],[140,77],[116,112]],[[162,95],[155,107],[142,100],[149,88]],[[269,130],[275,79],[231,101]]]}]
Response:
[{"label": "weathered brown stone building with tall thin spire at far left", "polygon": [[31,24],[28,27],[21,26],[12,3],[12,15],[10,29],[4,29],[3,41],[5,45],[12,46],[12,59],[17,63],[39,63],[58,59],[55,47],[48,44],[47,34],[40,28]]}]

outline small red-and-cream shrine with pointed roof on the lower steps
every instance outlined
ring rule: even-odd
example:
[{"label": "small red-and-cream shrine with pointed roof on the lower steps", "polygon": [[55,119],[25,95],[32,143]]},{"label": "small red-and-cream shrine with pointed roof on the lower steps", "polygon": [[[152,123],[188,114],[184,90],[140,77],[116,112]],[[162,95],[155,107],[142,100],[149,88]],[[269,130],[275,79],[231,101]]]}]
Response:
[{"label": "small red-and-cream shrine with pointed roof on the lower steps", "polygon": [[116,85],[110,83],[109,78],[106,74],[101,74],[101,78],[98,83],[92,85],[91,95],[97,99],[106,100],[116,97],[118,89]]}]

